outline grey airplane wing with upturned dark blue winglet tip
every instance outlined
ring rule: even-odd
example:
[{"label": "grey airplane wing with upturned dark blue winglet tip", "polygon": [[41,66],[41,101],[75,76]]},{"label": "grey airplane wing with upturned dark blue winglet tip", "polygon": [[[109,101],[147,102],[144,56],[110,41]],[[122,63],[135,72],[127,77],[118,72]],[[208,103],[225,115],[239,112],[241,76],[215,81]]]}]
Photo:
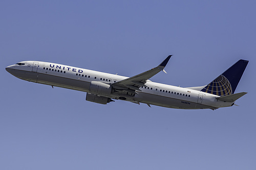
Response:
[{"label": "grey airplane wing with upturned dark blue winglet tip", "polygon": [[139,89],[141,86],[147,87],[145,85],[145,83],[148,79],[152,78],[153,76],[158,74],[158,72],[160,72],[160,71],[165,72],[164,67],[168,63],[170,57],[172,57],[172,55],[169,55],[161,64],[159,64],[155,68],[152,68],[150,70],[142,72],[139,75],[118,81],[116,83],[113,83],[112,87],[114,89],[116,89],[117,91],[124,90],[124,91],[130,92],[130,93],[137,94],[137,92],[135,90],[141,91]]}]

